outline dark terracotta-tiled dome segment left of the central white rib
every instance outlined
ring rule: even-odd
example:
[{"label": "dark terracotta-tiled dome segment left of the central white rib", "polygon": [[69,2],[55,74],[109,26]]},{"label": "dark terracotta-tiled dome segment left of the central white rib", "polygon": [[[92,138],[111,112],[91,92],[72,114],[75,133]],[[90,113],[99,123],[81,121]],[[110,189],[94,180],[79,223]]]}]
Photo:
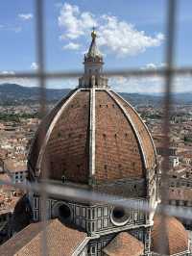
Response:
[{"label": "dark terracotta-tiled dome segment left of the central white rib", "polygon": [[[49,177],[85,183],[88,177],[89,91],[80,91],[64,108],[46,145]],[[41,166],[43,168],[43,166]]]}]

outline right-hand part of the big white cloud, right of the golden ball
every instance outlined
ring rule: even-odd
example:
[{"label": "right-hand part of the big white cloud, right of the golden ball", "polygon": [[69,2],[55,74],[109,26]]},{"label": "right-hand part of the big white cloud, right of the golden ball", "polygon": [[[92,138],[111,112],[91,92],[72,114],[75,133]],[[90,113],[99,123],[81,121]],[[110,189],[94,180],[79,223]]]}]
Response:
[{"label": "right-hand part of the big white cloud, right of the golden ball", "polygon": [[98,43],[121,57],[159,46],[164,38],[160,33],[156,37],[147,36],[144,31],[137,31],[132,24],[120,21],[115,16],[103,15],[102,18],[104,24],[99,29]]}]

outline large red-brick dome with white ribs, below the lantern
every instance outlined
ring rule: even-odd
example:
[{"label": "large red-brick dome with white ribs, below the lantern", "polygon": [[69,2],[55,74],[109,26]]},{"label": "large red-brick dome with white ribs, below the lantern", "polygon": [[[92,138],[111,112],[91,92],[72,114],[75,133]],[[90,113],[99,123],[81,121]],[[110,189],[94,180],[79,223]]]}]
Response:
[{"label": "large red-brick dome with white ribs, below the lantern", "polygon": [[114,91],[73,90],[47,115],[28,159],[31,176],[97,184],[144,178],[156,166],[150,133],[132,106]]}]

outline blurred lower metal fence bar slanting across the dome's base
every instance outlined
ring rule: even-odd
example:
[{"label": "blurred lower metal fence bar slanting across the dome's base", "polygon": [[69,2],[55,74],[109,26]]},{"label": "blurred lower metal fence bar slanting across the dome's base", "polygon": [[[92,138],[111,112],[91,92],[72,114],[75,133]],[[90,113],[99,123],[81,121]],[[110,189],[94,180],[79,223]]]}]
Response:
[{"label": "blurred lower metal fence bar slanting across the dome's base", "polygon": [[[54,185],[46,183],[46,185],[41,187],[41,184],[22,184],[16,183],[13,184],[12,182],[8,182],[5,180],[0,180],[0,185],[8,185],[12,188],[19,189],[22,191],[27,192],[46,192],[47,196],[55,197],[58,199],[65,199],[65,200],[82,200],[82,201],[91,201],[93,203],[106,203],[111,204],[113,206],[122,206],[128,209],[135,209],[141,210],[145,213],[152,213],[156,211],[156,214],[161,215],[162,213],[162,206],[159,206],[157,209],[156,207],[152,207],[149,205],[148,202],[144,202],[142,205],[138,204],[138,200],[131,198],[128,199],[122,197],[120,195],[112,195],[108,193],[101,193],[101,192],[90,192],[84,188],[74,188],[74,186],[69,185]],[[166,213],[167,216],[174,216],[177,218],[187,218],[192,219],[192,209],[186,210],[186,207],[178,207],[178,206],[171,206],[171,205],[163,205],[163,211]]]}]

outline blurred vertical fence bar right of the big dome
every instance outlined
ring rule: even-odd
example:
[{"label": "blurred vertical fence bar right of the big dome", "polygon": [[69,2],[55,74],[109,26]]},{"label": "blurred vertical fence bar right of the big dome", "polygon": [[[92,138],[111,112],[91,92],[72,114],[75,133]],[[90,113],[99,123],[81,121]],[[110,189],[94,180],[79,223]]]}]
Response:
[{"label": "blurred vertical fence bar right of the big dome", "polygon": [[177,0],[169,0],[167,8],[167,22],[166,22],[166,48],[165,48],[165,59],[167,64],[167,70],[165,72],[165,95],[164,95],[164,115],[162,123],[162,131],[164,135],[163,148],[166,154],[162,160],[161,168],[161,229],[160,237],[158,241],[159,252],[161,255],[166,255],[167,253],[167,237],[165,232],[167,231],[166,226],[166,211],[165,207],[169,199],[168,193],[168,171],[169,171],[169,147],[170,147],[170,115],[171,115],[171,93],[173,84],[173,73],[172,68],[174,65],[174,52],[175,52],[175,32],[176,32],[176,9]]}]

